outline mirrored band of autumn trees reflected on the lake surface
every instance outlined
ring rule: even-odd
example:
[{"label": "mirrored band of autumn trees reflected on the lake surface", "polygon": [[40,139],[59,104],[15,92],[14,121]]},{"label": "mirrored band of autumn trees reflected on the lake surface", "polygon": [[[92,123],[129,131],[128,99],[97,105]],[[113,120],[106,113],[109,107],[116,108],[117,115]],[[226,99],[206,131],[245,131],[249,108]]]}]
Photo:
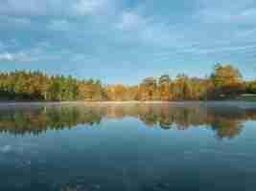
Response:
[{"label": "mirrored band of autumn trees reflected on the lake surface", "polygon": [[14,135],[39,135],[47,130],[75,128],[80,124],[93,127],[104,122],[104,117],[136,117],[151,128],[211,128],[217,138],[235,138],[246,120],[256,120],[256,110],[206,103],[12,106],[0,109],[0,131]]}]

